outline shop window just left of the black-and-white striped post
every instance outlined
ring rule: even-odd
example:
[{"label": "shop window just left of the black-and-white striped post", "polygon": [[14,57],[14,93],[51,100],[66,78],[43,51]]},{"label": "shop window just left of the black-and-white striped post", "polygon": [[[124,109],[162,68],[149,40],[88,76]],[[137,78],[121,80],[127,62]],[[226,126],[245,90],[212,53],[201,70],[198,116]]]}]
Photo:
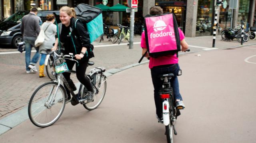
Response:
[{"label": "shop window just left of the black-and-white striped post", "polygon": [[196,36],[211,35],[213,4],[213,0],[198,0]]}]

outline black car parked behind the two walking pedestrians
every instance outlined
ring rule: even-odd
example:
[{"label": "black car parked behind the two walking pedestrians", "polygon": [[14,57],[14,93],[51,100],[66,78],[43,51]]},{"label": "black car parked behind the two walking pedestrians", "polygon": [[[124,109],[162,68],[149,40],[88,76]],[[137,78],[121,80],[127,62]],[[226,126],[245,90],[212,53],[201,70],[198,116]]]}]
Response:
[{"label": "black car parked behind the two walking pedestrians", "polygon": [[[29,11],[16,12],[3,22],[0,22],[0,44],[12,45],[13,48],[18,48],[18,43],[23,41],[20,32],[21,20],[22,17],[28,13]],[[60,23],[60,12],[57,10],[40,10],[38,11],[37,16],[41,18],[42,22],[45,22],[48,14],[54,14],[57,23]]]}]

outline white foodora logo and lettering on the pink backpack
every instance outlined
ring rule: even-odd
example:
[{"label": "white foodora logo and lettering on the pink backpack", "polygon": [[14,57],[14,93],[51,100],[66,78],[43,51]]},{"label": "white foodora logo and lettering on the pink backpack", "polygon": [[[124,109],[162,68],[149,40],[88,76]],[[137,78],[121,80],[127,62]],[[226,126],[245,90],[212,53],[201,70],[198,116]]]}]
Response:
[{"label": "white foodora logo and lettering on the pink backpack", "polygon": [[150,38],[166,37],[166,36],[172,35],[172,32],[162,32],[162,30],[166,28],[166,24],[162,20],[156,21],[153,28],[155,32],[158,32],[158,31],[161,31],[161,32],[156,34],[150,33]]}]

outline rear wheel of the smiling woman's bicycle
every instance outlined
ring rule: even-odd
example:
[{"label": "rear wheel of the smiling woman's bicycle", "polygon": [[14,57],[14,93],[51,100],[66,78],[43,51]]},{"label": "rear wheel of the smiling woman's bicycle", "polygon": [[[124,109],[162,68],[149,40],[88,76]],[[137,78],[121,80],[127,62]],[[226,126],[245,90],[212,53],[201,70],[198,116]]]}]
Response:
[{"label": "rear wheel of the smiling woman's bicycle", "polygon": [[106,76],[104,74],[101,75],[95,73],[94,75],[92,75],[92,79],[92,82],[97,87],[98,92],[95,93],[94,98],[91,102],[83,104],[84,107],[88,110],[96,109],[100,105],[105,96],[107,88]]}]

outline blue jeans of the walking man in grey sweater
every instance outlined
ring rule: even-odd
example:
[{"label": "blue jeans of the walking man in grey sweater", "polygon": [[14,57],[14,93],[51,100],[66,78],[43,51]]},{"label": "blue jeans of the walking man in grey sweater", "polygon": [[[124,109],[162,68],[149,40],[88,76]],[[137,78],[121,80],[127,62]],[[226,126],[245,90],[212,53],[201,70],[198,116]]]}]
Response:
[{"label": "blue jeans of the walking man in grey sweater", "polygon": [[36,41],[36,38],[34,38],[34,37],[24,37],[24,42],[26,44],[25,61],[26,61],[26,70],[27,71],[30,70],[30,68],[28,68],[29,64],[35,65],[40,57],[39,48],[36,48],[36,54],[33,56],[32,60],[30,61],[31,49],[32,49],[32,47],[35,47],[35,41]]}]

